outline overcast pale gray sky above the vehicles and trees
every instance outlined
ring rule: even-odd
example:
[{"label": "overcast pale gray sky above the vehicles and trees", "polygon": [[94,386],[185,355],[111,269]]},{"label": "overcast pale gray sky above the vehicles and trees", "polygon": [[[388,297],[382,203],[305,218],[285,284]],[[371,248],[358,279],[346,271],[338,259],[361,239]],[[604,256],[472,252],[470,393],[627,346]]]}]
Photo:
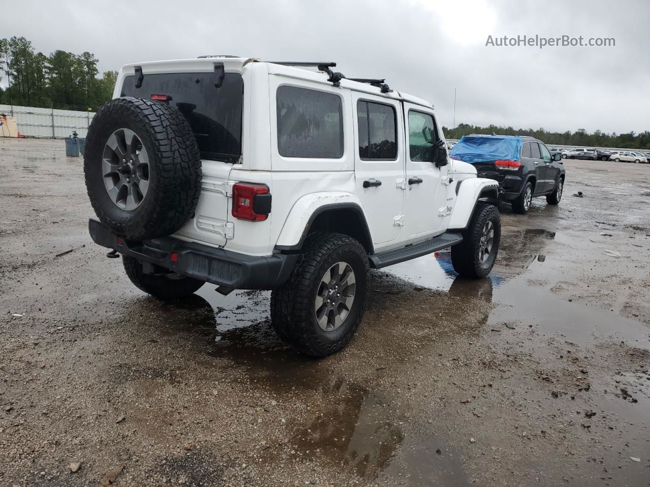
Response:
[{"label": "overcast pale gray sky above the vehicles and trees", "polygon": [[[650,1],[3,0],[0,37],[38,51],[127,62],[235,54],[334,60],[348,77],[385,77],[456,123],[650,130]],[[517,35],[615,38],[614,47],[491,47]]]}]

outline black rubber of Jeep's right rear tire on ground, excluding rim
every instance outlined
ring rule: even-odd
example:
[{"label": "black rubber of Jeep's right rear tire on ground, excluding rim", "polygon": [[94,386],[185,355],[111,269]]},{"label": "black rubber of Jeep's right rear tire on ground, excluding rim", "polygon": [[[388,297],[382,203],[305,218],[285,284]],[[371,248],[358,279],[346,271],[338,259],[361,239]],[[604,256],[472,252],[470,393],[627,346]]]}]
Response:
[{"label": "black rubber of Jeep's right rear tire on ground, excluding rim", "polygon": [[[356,290],[352,308],[333,331],[318,326],[315,298],[326,271],[346,262],[354,271]],[[291,276],[271,293],[271,319],[278,336],[305,355],[323,357],[345,347],[363,318],[367,300],[368,256],[363,245],[340,233],[313,233]]]}]

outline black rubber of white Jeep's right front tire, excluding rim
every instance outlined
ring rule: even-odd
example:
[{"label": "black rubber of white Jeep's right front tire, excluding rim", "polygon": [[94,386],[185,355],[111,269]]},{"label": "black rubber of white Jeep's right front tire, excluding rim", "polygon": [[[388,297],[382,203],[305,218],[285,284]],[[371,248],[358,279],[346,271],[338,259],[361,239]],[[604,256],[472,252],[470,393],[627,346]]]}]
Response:
[{"label": "black rubber of white Jeep's right front tire, excluding rim", "polygon": [[[481,238],[488,221],[492,223],[494,228],[492,249],[487,256],[487,260],[481,262],[479,258]],[[499,254],[500,241],[501,218],[499,210],[493,205],[479,203],[474,210],[469,225],[467,225],[467,229],[463,231],[463,242],[451,247],[451,263],[454,270],[461,277],[473,279],[486,277],[492,270]]]}]

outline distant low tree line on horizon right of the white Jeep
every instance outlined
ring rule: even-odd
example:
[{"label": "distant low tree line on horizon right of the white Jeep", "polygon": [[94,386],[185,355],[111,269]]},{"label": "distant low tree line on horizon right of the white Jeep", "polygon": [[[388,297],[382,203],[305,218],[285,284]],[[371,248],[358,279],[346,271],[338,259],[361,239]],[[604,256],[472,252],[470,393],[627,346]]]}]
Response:
[{"label": "distant low tree line on horizon right of the white Jeep", "polygon": [[586,148],[591,147],[617,147],[620,149],[650,149],[650,131],[643,131],[638,134],[627,132],[627,134],[611,134],[595,131],[589,133],[584,129],[575,132],[549,132],[544,129],[513,129],[513,127],[497,127],[488,125],[467,125],[461,123],[454,129],[443,127],[445,138],[460,139],[463,135],[469,134],[497,134],[497,135],[527,135],[537,138],[546,145],[578,145]]}]

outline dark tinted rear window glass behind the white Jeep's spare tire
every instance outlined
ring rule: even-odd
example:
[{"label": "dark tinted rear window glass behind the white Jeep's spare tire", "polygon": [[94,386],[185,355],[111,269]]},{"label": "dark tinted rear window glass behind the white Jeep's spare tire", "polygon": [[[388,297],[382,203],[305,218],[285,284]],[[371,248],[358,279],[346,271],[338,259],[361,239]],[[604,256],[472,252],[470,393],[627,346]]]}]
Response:
[{"label": "dark tinted rear window glass behind the white Jeep's spare tire", "polygon": [[136,88],[135,76],[127,76],[122,96],[169,95],[170,105],[190,123],[202,158],[237,162],[242,153],[244,81],[239,73],[226,73],[220,88],[214,87],[215,81],[213,73],[150,74]]}]

